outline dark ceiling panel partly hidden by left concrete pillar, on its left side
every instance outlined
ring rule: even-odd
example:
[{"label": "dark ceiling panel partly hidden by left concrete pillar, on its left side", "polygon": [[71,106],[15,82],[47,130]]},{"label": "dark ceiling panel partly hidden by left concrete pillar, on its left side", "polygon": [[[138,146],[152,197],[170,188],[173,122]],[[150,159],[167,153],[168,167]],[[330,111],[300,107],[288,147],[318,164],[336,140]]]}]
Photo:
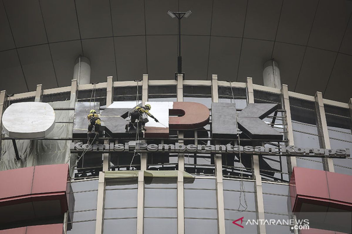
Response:
[{"label": "dark ceiling panel partly hidden by left concrete pillar, on its left side", "polygon": [[81,41],[51,43],[50,49],[59,86],[70,86],[75,60],[82,55]]}]

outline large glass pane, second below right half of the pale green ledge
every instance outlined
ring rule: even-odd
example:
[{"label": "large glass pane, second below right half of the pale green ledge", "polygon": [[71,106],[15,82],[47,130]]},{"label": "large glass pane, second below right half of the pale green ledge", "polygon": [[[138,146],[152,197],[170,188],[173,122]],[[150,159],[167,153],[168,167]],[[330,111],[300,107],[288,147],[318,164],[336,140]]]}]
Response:
[{"label": "large glass pane, second below right half of the pale green ledge", "polygon": [[177,207],[177,189],[146,188],[144,205],[146,207]]}]

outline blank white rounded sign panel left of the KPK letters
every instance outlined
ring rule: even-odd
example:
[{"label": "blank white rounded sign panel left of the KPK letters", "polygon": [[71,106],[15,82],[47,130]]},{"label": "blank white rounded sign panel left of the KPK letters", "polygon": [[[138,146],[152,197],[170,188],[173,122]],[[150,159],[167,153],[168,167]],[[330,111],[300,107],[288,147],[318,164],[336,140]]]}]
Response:
[{"label": "blank white rounded sign panel left of the KPK letters", "polygon": [[2,114],[2,127],[11,138],[44,138],[55,127],[55,111],[44,102],[13,103]]}]

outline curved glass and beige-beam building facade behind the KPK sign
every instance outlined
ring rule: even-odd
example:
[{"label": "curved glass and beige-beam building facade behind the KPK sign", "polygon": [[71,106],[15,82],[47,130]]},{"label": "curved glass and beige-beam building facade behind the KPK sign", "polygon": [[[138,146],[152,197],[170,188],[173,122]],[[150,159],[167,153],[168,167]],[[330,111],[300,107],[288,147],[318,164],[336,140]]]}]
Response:
[{"label": "curved glass and beige-beam building facade behind the KPK sign", "polygon": [[[16,161],[13,147],[9,143],[11,139],[3,135],[0,165],[4,172],[29,166],[69,164],[68,182],[71,191],[67,194],[74,197],[74,202],[68,199],[68,209],[61,214],[61,221],[50,221],[61,223],[63,233],[308,233],[307,230],[294,229],[293,225],[282,223],[244,224],[248,220],[295,218],[293,210],[297,200],[292,200],[292,197],[299,197],[298,182],[295,185],[297,192],[293,194],[293,190],[290,190],[293,180],[298,181],[298,178],[293,177],[295,167],[313,169],[309,171],[313,174],[316,171],[331,172],[345,178],[341,180],[351,181],[349,176],[352,175],[352,160],[349,157],[332,159],[324,156],[158,151],[138,154],[88,152],[82,156],[82,153],[70,153],[68,149],[72,141],[83,140],[72,138],[73,112],[77,102],[89,102],[95,109],[104,109],[115,101],[136,100],[143,103],[198,102],[210,111],[212,102],[235,103],[238,112],[249,103],[275,103],[279,108],[264,121],[282,133],[283,139],[263,140],[259,142],[260,145],[351,149],[352,101],[341,103],[326,100],[320,92],[308,96],[289,92],[287,85],[282,85],[281,89],[254,85],[251,78],[247,78],[246,83],[226,82],[218,81],[217,76],[213,75],[211,81],[196,81],[183,80],[179,74],[176,80],[148,80],[148,76],[144,75],[142,81],[113,82],[112,77],[108,77],[107,82],[87,85],[77,85],[77,81],[72,80],[69,87],[45,90],[38,85],[36,92],[11,97],[7,97],[6,91],[1,91],[0,98],[0,113],[12,103],[24,101],[48,102],[55,110],[56,126],[53,135],[47,139],[31,140],[38,145],[42,144],[42,150],[31,154],[26,149],[38,148],[21,145],[28,140],[17,140],[20,160]],[[98,101],[99,106],[95,106]],[[211,123],[210,118],[209,123],[199,129],[170,130],[167,139],[141,137],[140,140],[156,144],[258,145],[258,142],[246,138],[214,139]],[[56,133],[61,139],[55,138]],[[131,140],[136,139],[113,139],[107,135],[101,139],[103,143],[124,143]],[[301,175],[302,173],[305,172],[301,172]],[[5,195],[2,196],[1,199],[6,198]],[[344,205],[339,207],[339,212],[350,210],[350,200],[340,201]],[[313,204],[314,201],[306,203]],[[73,207],[69,208],[70,204]],[[320,203],[318,205],[325,206]],[[305,210],[316,211],[314,207]],[[11,228],[21,228],[21,225],[37,224],[38,221],[11,224],[10,219],[7,226],[4,225],[7,229],[0,230],[0,233],[11,233]],[[40,223],[45,224],[49,223],[45,223],[45,220]],[[311,226],[309,233],[322,233],[322,230],[312,232],[313,228]],[[326,233],[335,233],[341,229],[330,230],[332,231]]]}]

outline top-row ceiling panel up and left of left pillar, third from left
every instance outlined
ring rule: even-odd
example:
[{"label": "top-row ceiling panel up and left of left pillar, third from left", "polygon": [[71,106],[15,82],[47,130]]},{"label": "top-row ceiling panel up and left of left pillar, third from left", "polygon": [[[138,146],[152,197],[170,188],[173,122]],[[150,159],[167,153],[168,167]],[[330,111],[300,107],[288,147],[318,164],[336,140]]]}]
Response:
[{"label": "top-row ceiling panel up and left of left pillar, third from left", "polygon": [[80,39],[75,3],[40,0],[49,42]]}]

